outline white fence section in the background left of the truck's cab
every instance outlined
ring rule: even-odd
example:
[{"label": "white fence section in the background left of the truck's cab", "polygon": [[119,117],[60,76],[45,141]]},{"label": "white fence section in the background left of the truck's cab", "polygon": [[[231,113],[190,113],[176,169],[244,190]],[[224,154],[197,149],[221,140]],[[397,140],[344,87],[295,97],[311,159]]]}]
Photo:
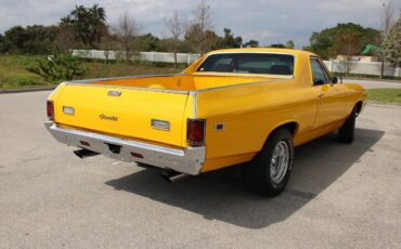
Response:
[{"label": "white fence section in the background left of the truck's cab", "polygon": [[[107,55],[107,56],[106,56]],[[73,50],[73,56],[81,58],[94,58],[94,60],[125,60],[125,52],[122,51],[102,51],[102,50]],[[177,53],[178,63],[191,64],[195,62],[200,54],[192,53]],[[133,61],[138,60],[141,62],[160,62],[160,63],[174,63],[173,53],[160,53],[160,52],[139,52],[133,56]]]}]

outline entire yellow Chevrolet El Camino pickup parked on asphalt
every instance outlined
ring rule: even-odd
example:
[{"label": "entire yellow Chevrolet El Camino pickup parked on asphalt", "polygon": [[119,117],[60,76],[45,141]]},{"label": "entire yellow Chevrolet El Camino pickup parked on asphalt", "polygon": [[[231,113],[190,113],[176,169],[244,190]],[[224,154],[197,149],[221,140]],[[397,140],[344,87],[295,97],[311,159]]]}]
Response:
[{"label": "entire yellow Chevrolet El Camino pickup parked on asphalt", "polygon": [[164,168],[171,181],[244,163],[248,188],[275,196],[294,147],[337,129],[340,142],[352,142],[365,96],[315,54],[232,49],[177,75],[64,82],[49,96],[46,124],[79,157]]}]

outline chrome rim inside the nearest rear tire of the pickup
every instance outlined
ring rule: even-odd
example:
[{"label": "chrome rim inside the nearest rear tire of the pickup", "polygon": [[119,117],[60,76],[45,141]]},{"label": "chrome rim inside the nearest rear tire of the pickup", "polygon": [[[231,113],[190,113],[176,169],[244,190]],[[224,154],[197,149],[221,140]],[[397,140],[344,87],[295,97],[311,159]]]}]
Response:
[{"label": "chrome rim inside the nearest rear tire of the pickup", "polygon": [[273,150],[270,161],[270,176],[275,184],[280,184],[287,173],[289,163],[289,147],[285,141],[280,141]]}]

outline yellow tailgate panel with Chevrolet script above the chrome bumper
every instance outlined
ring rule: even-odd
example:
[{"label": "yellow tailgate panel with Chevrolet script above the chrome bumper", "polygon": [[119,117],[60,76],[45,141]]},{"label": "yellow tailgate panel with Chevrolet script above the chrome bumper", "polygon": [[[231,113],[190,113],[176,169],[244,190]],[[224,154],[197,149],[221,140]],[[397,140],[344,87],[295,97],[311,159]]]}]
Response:
[{"label": "yellow tailgate panel with Chevrolet script above the chrome bumper", "polygon": [[[187,96],[186,92],[66,84],[54,100],[54,120],[100,133],[183,147]],[[65,114],[65,107],[74,108],[74,114]],[[152,128],[152,119],[168,121],[169,130]]]}]

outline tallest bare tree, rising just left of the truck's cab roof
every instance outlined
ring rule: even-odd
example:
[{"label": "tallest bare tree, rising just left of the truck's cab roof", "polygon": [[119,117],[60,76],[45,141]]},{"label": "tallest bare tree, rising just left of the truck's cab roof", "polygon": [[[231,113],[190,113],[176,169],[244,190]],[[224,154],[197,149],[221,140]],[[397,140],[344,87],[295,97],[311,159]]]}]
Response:
[{"label": "tallest bare tree, rising just left of the truck's cab roof", "polygon": [[210,18],[210,5],[206,4],[205,0],[202,0],[193,10],[193,21],[185,34],[185,37],[196,45],[197,52],[202,54],[210,47],[206,37],[206,31],[211,30]]}]

